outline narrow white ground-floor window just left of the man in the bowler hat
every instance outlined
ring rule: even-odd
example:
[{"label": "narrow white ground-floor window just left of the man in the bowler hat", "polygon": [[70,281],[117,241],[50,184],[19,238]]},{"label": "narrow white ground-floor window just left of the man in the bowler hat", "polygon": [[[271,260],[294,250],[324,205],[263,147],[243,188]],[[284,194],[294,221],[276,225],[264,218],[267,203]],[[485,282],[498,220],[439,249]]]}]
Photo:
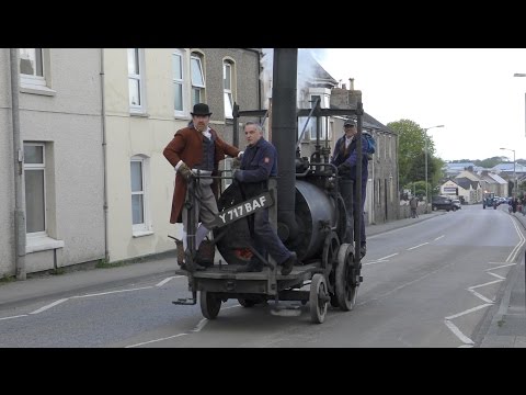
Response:
[{"label": "narrow white ground-floor window just left of the man in the bowler hat", "polygon": [[130,160],[132,225],[134,236],[152,234],[148,224],[148,159],[135,156]]}]

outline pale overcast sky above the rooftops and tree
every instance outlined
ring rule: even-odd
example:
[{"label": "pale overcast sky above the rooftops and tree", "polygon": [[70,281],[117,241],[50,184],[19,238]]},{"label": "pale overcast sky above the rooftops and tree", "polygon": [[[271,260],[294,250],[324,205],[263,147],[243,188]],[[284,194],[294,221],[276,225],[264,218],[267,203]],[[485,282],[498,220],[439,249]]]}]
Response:
[{"label": "pale overcast sky above the rooftops and tree", "polygon": [[[305,50],[305,49],[302,49]],[[336,81],[362,91],[387,125],[411,120],[443,160],[526,159],[526,48],[309,48]],[[501,150],[500,148],[508,148]]]}]

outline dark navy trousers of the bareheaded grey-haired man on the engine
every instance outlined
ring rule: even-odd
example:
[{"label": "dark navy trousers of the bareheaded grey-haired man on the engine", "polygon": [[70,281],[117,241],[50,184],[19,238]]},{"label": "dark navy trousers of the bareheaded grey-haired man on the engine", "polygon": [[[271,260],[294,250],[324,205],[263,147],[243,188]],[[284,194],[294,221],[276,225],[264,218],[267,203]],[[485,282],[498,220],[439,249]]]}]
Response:
[{"label": "dark navy trousers of the bareheaded grey-haired man on the engine", "polygon": [[249,221],[252,219],[254,247],[263,257],[266,257],[266,252],[271,255],[277,264],[282,264],[290,257],[290,251],[285,247],[277,234],[271,226],[268,221],[268,208],[263,208],[251,215]]}]

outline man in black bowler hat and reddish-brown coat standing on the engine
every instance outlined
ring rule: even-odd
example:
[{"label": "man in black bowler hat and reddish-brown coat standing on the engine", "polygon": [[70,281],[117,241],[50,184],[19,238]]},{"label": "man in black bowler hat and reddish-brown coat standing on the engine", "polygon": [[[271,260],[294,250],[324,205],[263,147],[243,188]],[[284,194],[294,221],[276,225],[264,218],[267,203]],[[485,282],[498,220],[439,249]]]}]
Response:
[{"label": "man in black bowler hat and reddish-brown coat standing on the engine", "polygon": [[[197,196],[195,223],[202,221],[195,234],[195,248],[197,249],[218,214],[219,180],[206,179],[206,176],[218,174],[219,161],[225,159],[225,155],[239,158],[243,154],[238,148],[224,142],[217,132],[208,126],[211,112],[207,104],[195,104],[191,114],[192,123],[187,127],[179,129],[163,150],[164,157],[176,171],[170,223],[183,223],[183,248],[185,250],[188,233],[186,208],[183,206],[186,198],[186,182],[197,172],[199,176],[205,176],[205,178],[199,178],[195,190]],[[193,232],[193,229],[191,230]]]}]

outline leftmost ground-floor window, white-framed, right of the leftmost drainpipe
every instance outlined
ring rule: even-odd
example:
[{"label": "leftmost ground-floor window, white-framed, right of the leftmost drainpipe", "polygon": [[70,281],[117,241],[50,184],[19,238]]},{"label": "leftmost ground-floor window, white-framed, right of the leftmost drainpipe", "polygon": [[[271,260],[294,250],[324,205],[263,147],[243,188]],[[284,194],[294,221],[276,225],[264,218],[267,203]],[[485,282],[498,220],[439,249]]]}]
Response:
[{"label": "leftmost ground-floor window, white-framed, right of the leftmost drainpipe", "polygon": [[26,233],[46,233],[46,163],[44,144],[24,144]]}]

